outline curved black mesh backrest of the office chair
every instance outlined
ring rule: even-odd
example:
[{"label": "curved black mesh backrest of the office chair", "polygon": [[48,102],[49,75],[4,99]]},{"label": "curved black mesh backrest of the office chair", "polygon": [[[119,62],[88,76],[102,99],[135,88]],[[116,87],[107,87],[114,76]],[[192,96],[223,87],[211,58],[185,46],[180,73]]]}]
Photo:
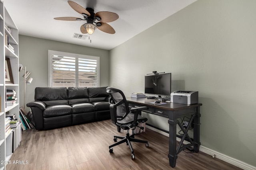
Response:
[{"label": "curved black mesh backrest of the office chair", "polygon": [[121,90],[108,87],[106,91],[111,96],[109,99],[111,120],[116,124],[117,119],[122,120],[128,115],[130,112],[129,105]]}]

